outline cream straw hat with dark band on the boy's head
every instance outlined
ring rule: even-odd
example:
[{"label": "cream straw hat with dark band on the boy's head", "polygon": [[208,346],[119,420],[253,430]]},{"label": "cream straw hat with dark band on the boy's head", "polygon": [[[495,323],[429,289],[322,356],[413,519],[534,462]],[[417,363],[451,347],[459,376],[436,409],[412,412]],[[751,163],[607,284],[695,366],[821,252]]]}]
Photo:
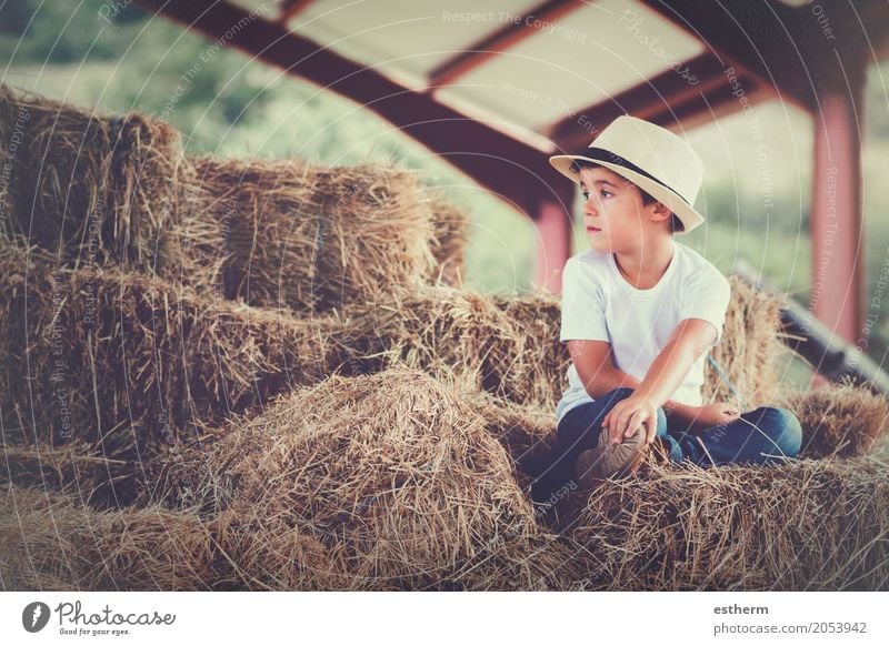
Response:
[{"label": "cream straw hat with dark band on the boy's head", "polygon": [[549,158],[560,173],[579,183],[571,172],[573,160],[596,162],[630,180],[670,209],[688,233],[703,222],[692,204],[703,181],[703,163],[698,153],[666,128],[625,114],[608,124],[582,154]]}]

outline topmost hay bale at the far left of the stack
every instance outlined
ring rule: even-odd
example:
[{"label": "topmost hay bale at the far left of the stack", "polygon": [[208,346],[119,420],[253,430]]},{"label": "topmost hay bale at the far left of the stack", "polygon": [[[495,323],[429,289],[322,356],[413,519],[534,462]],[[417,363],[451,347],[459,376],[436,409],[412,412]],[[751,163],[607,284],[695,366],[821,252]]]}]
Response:
[{"label": "topmost hay bale at the far left of the stack", "polygon": [[[107,115],[0,85],[0,148],[11,171],[2,233],[71,268],[190,265],[172,235],[182,194],[178,131],[138,112]],[[196,280],[199,268],[187,275]]]}]

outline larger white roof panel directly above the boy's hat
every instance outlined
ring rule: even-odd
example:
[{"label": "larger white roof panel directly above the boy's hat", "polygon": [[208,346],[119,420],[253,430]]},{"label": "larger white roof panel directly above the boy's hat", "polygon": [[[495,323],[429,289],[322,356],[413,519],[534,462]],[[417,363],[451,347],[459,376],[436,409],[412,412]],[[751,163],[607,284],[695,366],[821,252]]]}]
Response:
[{"label": "larger white roof panel directly above the boy's hat", "polygon": [[541,130],[702,51],[639,2],[600,0],[542,26],[436,97]]}]

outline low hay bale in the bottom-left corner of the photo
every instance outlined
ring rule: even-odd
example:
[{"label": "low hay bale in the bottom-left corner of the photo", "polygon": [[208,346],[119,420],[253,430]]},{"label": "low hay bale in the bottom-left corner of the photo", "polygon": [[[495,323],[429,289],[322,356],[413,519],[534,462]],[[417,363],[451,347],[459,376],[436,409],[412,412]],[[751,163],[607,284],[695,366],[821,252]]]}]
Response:
[{"label": "low hay bale in the bottom-left corner of the photo", "polygon": [[0,584],[18,591],[201,591],[230,585],[197,515],[94,512],[73,496],[0,487]]}]

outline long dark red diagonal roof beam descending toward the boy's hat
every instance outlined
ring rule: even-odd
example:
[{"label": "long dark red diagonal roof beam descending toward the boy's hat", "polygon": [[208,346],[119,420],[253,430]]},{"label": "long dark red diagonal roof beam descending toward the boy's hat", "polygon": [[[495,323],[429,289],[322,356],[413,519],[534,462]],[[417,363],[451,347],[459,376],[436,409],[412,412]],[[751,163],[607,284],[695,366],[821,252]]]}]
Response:
[{"label": "long dark red diagonal roof beam descending toward the boy's hat", "polygon": [[[539,195],[555,181],[547,151],[516,141],[431,97],[412,92],[329,48],[319,48],[279,23],[261,17],[250,19],[247,11],[224,1],[137,2],[360,103],[531,218],[537,215]],[[239,29],[233,30],[233,26]]]}]

